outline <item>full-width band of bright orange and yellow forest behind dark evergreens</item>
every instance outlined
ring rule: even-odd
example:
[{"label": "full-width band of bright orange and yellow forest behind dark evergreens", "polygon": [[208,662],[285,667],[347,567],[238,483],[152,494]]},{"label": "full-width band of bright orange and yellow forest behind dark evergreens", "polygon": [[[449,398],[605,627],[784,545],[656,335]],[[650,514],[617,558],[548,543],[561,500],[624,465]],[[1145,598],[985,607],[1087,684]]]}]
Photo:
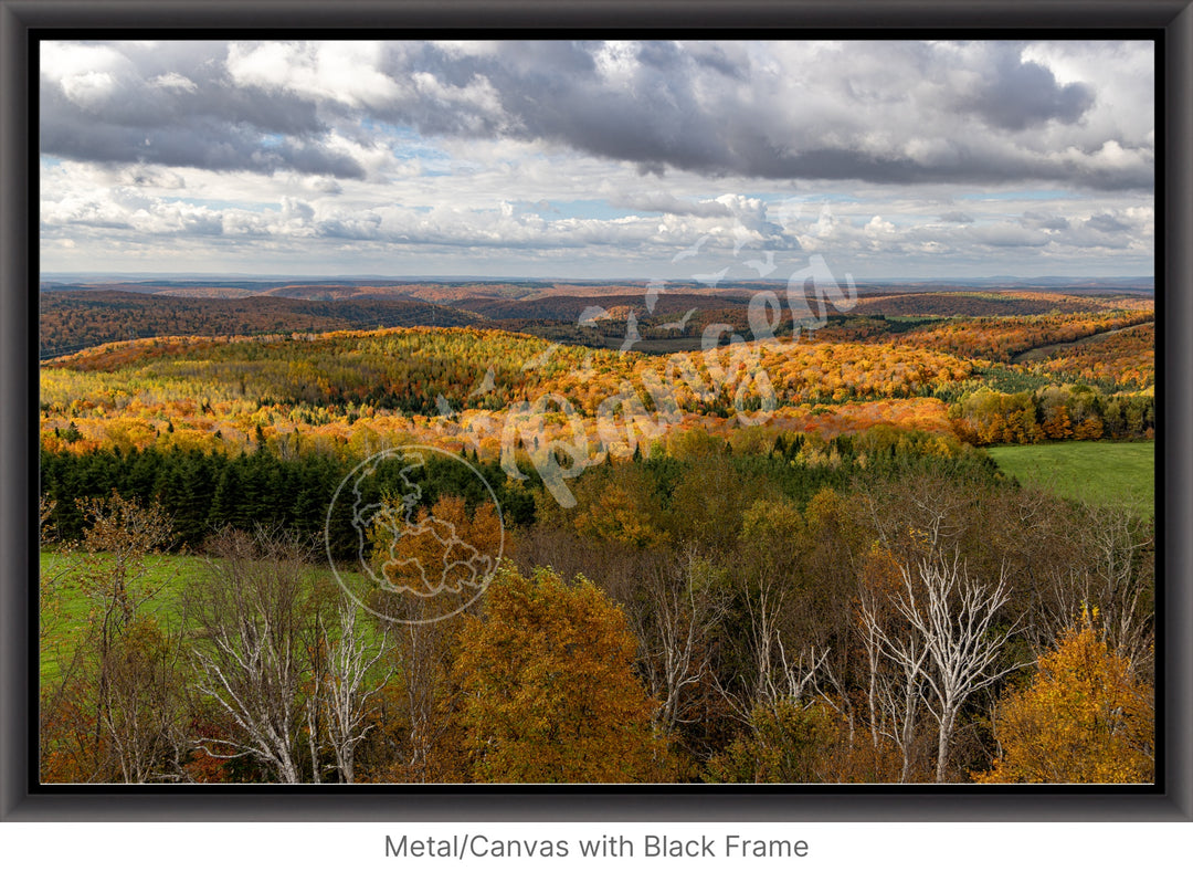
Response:
[{"label": "full-width band of bright orange and yellow forest behind dark evergreens", "polygon": [[[623,414],[636,408],[665,434],[707,427],[706,420],[730,428],[768,415],[784,428],[853,431],[866,427],[865,414],[874,409],[867,405],[935,399],[954,405],[952,424],[938,405],[937,428],[971,443],[1148,437],[1152,391],[1138,386],[1154,380],[1154,369],[1141,372],[1152,357],[1148,328],[1016,365],[890,341],[925,334],[952,339],[954,332],[968,340],[973,331],[981,343],[989,331],[990,339],[1019,334],[1016,345],[1027,345],[1136,317],[1120,312],[927,328],[916,322],[908,328],[917,325],[919,331],[901,335],[891,334],[891,320],[851,317],[795,343],[778,338],[654,356],[474,328],[157,338],[45,366],[42,436],[48,449],[72,452],[180,446],[236,454],[259,446],[264,433],[279,456],[313,449],[344,456],[348,448],[359,452],[372,443],[369,438],[396,444],[462,436],[493,456],[508,440],[501,426],[527,412],[570,408],[599,446],[598,423],[618,408]],[[729,339],[728,331],[717,337]],[[1053,366],[1075,374],[1053,372]],[[1076,374],[1094,378],[1087,386]],[[1068,428],[1065,419],[1053,419],[1059,405],[1068,411]],[[821,415],[834,414],[840,425],[820,425]],[[542,431],[550,436],[563,428],[548,419]]]}]

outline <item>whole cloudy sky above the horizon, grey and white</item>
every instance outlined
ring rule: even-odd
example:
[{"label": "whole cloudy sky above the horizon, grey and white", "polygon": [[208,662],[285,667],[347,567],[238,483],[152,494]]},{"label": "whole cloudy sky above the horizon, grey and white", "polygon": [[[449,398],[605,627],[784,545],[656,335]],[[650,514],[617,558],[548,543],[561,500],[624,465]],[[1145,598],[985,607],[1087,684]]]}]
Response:
[{"label": "whole cloudy sky above the horizon, grey and white", "polygon": [[1148,42],[45,42],[41,148],[43,272],[1152,271]]}]

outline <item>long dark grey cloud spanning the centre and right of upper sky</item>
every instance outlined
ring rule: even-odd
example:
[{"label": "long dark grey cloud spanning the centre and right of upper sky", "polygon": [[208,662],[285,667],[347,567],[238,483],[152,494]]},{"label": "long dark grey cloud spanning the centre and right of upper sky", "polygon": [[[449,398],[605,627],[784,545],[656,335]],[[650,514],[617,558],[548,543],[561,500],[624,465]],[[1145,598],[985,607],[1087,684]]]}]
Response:
[{"label": "long dark grey cloud spanning the centre and right of upper sky", "polygon": [[[738,50],[740,57],[730,51]],[[398,101],[378,112],[435,134],[503,134],[582,153],[711,177],[864,180],[879,184],[1057,180],[1093,189],[1152,184],[1146,130],[1100,158],[1083,135],[1050,147],[1057,125],[1081,122],[1094,88],[1061,85],[1022,47],[848,44],[781,63],[696,44],[503,43],[486,53],[435,45],[395,54],[395,80],[412,69],[457,90],[483,84],[499,109]],[[957,72],[966,74],[957,75]],[[958,125],[958,117],[970,123]],[[1028,140],[1028,136],[1033,136]],[[1088,140],[1088,143],[1082,138]],[[909,146],[932,142],[916,153]]]}]

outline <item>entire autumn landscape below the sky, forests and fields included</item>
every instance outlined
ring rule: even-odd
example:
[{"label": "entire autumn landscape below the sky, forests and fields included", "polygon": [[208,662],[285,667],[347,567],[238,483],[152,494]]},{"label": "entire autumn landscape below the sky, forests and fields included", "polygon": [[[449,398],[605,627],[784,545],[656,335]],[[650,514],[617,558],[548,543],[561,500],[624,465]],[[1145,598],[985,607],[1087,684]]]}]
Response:
[{"label": "entire autumn landscape below the sky, forests and fields included", "polygon": [[771,288],[48,285],[41,779],[1150,783],[1151,292]]}]

